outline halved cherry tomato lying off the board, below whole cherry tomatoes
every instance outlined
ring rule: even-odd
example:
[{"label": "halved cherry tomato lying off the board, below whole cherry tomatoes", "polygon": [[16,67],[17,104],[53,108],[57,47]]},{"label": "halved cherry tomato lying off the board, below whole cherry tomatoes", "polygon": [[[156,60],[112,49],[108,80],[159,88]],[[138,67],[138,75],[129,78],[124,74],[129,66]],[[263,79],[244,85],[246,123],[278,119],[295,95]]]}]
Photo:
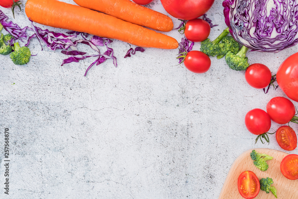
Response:
[{"label": "halved cherry tomato lying off the board, below whole cherry tomatoes", "polygon": [[292,151],[297,147],[297,136],[289,126],[279,127],[275,134],[276,141],[282,149]]}]

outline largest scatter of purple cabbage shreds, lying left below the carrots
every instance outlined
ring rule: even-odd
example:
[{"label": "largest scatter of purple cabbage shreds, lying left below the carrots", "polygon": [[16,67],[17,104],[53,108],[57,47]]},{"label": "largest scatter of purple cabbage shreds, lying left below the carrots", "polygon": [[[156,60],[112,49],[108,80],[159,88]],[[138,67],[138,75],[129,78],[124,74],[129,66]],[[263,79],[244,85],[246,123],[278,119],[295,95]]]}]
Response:
[{"label": "largest scatter of purple cabbage shreds, lying left below the carrots", "polygon": [[[113,63],[115,67],[117,67],[117,58],[114,56],[114,50],[110,47],[108,47],[108,44],[112,43],[113,41],[108,38],[101,38],[98,36],[93,36],[91,38],[91,41],[87,40],[86,37],[89,36],[88,33],[82,33],[77,31],[68,31],[67,34],[70,34],[70,36],[67,36],[63,33],[55,33],[52,31],[49,31],[48,29],[42,30],[39,27],[36,27],[33,24],[33,21],[29,18],[31,21],[31,28],[30,27],[24,27],[21,29],[17,24],[13,24],[12,21],[7,22],[6,20],[8,17],[0,10],[0,22],[4,29],[9,32],[14,38],[8,41],[9,45],[13,45],[15,42],[15,39],[20,39],[23,41],[23,39],[27,39],[26,30],[32,30],[34,32],[33,35],[29,36],[27,40],[27,44],[25,46],[28,46],[32,38],[37,38],[39,43],[41,44],[41,41],[43,41],[46,44],[46,47],[50,50],[57,50],[57,49],[63,49],[61,53],[65,55],[71,55],[71,57],[64,59],[63,64],[68,64],[71,62],[78,62],[80,60],[89,58],[89,57],[98,57],[86,70],[85,76],[88,72],[88,70],[96,63],[96,65],[99,65],[103,62],[105,62],[107,59],[113,59]],[[72,41],[73,38],[76,38],[78,35],[81,35],[84,39],[79,39],[76,41]],[[77,51],[77,44],[82,43],[89,45],[91,49],[95,50],[98,55],[87,55],[87,56],[81,56],[76,57],[77,55],[85,55],[86,53]],[[96,46],[106,46],[107,50],[105,53],[100,54],[100,50]],[[72,49],[71,51],[66,51],[67,49]],[[43,50],[41,45],[41,50]],[[35,56],[35,55],[32,55]],[[61,66],[62,66],[61,65]]]}]

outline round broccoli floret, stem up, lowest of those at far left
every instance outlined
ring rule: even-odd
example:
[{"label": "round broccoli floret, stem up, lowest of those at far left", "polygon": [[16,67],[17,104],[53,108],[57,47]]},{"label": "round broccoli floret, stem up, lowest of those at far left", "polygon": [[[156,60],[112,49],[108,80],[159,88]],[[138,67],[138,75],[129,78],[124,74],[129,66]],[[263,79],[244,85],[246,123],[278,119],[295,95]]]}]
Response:
[{"label": "round broccoli floret, stem up, lowest of those at far left", "polygon": [[27,64],[30,60],[31,52],[28,47],[20,47],[19,43],[16,42],[13,44],[15,51],[10,54],[10,58],[16,65]]}]

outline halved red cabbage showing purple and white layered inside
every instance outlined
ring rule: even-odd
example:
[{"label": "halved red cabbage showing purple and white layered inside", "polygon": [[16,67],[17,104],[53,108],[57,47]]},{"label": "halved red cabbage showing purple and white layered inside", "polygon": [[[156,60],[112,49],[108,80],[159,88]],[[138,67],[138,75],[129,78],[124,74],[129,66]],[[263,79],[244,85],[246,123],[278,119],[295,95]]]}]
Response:
[{"label": "halved red cabbage showing purple and white layered inside", "polygon": [[279,52],[298,43],[297,0],[225,0],[226,25],[252,51]]}]

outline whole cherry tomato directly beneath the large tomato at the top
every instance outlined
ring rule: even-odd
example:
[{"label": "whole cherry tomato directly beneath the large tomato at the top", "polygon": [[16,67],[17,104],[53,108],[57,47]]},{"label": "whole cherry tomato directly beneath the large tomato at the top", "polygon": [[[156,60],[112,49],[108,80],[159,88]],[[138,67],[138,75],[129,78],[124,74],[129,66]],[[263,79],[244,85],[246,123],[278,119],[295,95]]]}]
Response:
[{"label": "whole cherry tomato directly beneath the large tomato at the top", "polygon": [[186,22],[185,37],[194,42],[204,41],[210,34],[210,25],[203,19],[193,19]]}]

